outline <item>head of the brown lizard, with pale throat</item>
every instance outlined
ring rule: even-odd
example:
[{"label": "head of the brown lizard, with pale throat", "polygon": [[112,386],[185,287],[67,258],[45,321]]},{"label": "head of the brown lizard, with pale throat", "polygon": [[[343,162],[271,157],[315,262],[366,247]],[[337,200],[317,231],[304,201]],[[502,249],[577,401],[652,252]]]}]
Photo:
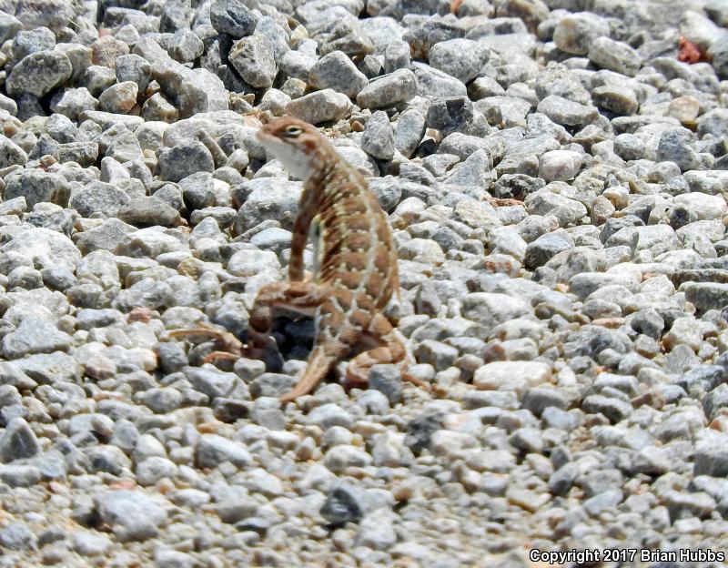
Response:
[{"label": "head of the brown lizard, with pale throat", "polygon": [[258,130],[258,141],[288,172],[304,181],[316,170],[329,146],[319,131],[303,120],[279,117]]}]

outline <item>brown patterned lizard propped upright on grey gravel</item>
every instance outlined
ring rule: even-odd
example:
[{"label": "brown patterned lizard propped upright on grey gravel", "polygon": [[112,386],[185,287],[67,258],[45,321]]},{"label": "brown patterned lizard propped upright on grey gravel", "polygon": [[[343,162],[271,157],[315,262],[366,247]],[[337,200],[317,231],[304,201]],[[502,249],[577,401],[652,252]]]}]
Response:
[{"label": "brown patterned lizard propped upright on grey gravel", "polygon": [[[248,318],[247,348],[230,333],[206,328],[175,330],[170,335],[214,337],[223,350],[210,353],[206,361],[242,355],[258,358],[270,340],[273,310],[292,309],[314,316],[316,337],[306,369],[293,390],[280,397],[281,402],[313,391],[359,346],[367,350],[349,360],[349,384],[364,385],[372,366],[394,363],[404,380],[428,389],[406,372],[410,353],[382,312],[395,292],[399,296],[398,256],[387,216],[364,177],[339,157],[315,127],[298,118],[275,118],[258,130],[257,137],[291,175],[303,181],[288,282],[258,290]],[[303,250],[314,222],[320,238],[319,266],[304,279]]]}]

